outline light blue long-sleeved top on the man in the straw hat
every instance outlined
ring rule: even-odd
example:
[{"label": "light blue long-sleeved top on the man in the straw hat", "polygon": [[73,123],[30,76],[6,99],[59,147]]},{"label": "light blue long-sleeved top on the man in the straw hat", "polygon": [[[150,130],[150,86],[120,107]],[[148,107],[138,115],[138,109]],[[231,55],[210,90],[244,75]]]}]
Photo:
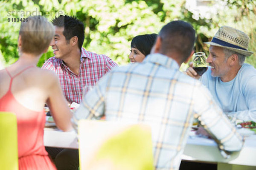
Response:
[{"label": "light blue long-sleeved top on the man in the straw hat", "polygon": [[244,121],[256,121],[256,69],[252,65],[243,64],[229,82],[212,77],[210,69],[201,80],[224,113]]}]

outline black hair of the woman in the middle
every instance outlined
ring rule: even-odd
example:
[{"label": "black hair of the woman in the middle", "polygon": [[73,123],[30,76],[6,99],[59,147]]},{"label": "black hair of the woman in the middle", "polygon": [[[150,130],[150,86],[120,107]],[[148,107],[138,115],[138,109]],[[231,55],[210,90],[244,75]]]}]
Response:
[{"label": "black hair of the woman in the middle", "polygon": [[137,48],[142,54],[150,54],[151,48],[157,39],[157,34],[137,35],[131,40],[131,48]]}]

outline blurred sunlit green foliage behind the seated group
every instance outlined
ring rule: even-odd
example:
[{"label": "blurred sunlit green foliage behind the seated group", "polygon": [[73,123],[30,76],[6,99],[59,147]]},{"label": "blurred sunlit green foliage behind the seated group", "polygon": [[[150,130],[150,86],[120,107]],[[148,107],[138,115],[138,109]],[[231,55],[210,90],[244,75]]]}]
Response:
[{"label": "blurred sunlit green foliage behind the seated group", "polygon": [[[215,1],[213,4],[217,3]],[[8,22],[7,19],[22,17],[21,12],[17,11],[36,10],[42,11],[49,20],[60,12],[78,17],[85,26],[83,47],[88,51],[106,54],[119,65],[129,62],[130,43],[134,36],[158,33],[163,25],[172,20],[185,20],[194,26],[198,34],[195,51],[204,51],[208,55],[208,47],[203,42],[211,40],[223,25],[233,26],[249,34],[249,50],[256,51],[256,1],[218,1],[225,3],[225,8],[209,19],[195,17],[186,8],[186,0],[3,0],[0,1],[0,62],[7,66],[18,58],[20,22]],[[9,15],[12,11],[14,14]],[[49,48],[38,66],[52,56],[52,49]],[[256,67],[255,57],[256,54],[253,54],[246,62]]]}]

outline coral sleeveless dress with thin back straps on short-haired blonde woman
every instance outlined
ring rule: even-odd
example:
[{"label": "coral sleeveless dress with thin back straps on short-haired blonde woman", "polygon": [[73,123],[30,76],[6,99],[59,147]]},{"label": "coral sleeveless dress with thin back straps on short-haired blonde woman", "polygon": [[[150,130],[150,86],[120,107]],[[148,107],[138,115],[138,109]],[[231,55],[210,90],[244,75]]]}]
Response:
[{"label": "coral sleeveless dress with thin back straps on short-haired blonde woman", "polygon": [[0,111],[12,112],[17,116],[19,170],[56,170],[44,148],[44,111],[25,108],[11,91],[12,80],[31,67],[34,66],[23,69],[15,76],[11,76],[6,69],[11,81],[9,90],[0,98]]}]

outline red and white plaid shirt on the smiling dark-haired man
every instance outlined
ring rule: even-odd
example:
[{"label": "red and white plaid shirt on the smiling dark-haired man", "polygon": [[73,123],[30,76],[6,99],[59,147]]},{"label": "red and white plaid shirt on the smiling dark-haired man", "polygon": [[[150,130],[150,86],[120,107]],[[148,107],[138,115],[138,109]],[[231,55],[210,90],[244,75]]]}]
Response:
[{"label": "red and white plaid shirt on the smiling dark-haired man", "polygon": [[68,102],[80,103],[82,93],[87,92],[99,79],[117,64],[105,55],[81,49],[79,75],[73,73],[61,59],[49,58],[43,69],[52,70],[58,75],[61,88]]}]

